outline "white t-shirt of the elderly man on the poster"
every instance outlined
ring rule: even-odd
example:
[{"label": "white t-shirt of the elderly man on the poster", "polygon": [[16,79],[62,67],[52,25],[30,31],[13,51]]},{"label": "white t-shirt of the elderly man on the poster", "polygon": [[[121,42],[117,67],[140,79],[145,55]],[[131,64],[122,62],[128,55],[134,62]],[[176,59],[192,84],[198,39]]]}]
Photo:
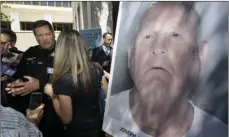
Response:
[{"label": "white t-shirt of the elderly man on the poster", "polygon": [[[126,133],[120,132],[120,127],[132,131],[138,137],[151,137],[141,131],[138,125],[134,122],[129,105],[129,92],[131,90],[122,91],[116,95],[108,96],[108,112],[105,116],[106,131],[113,135],[127,137]],[[194,117],[192,125],[187,133],[182,137],[226,137],[228,127],[218,118],[208,114],[202,109],[194,105],[189,100],[193,109]],[[114,104],[120,103],[121,106]],[[109,119],[109,121],[107,121]]]}]

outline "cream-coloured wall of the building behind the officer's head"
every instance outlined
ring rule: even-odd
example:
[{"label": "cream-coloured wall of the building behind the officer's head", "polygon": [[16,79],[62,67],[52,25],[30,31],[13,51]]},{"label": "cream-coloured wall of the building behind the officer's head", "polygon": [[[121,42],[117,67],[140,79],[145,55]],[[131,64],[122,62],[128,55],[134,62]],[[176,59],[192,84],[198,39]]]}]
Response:
[{"label": "cream-coloured wall of the building behind the officer's head", "polygon": [[[34,22],[36,20],[45,19],[50,23],[73,23],[72,8],[63,7],[47,7],[47,6],[32,6],[20,4],[6,4],[9,6],[2,7],[1,12],[10,15],[13,20],[11,29],[16,32],[17,43],[19,50],[25,51],[30,46],[37,45],[37,41],[32,31],[20,30],[20,21]],[[55,32],[56,37],[60,32]]]}]

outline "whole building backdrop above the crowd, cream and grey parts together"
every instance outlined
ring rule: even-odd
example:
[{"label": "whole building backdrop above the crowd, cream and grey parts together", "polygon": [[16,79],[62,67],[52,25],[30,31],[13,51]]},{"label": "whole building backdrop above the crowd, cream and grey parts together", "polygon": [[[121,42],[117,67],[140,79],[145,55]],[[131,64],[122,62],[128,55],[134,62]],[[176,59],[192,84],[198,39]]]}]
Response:
[{"label": "whole building backdrop above the crowd, cream and grey parts together", "polygon": [[[70,2],[70,1],[1,1],[1,12],[9,15],[12,23],[1,21],[1,28],[16,32],[17,47],[25,51],[37,42],[32,23],[45,19],[53,24],[56,37],[64,28],[76,30],[101,28],[102,34],[115,34],[119,2]],[[113,35],[115,36],[115,35]]]}]

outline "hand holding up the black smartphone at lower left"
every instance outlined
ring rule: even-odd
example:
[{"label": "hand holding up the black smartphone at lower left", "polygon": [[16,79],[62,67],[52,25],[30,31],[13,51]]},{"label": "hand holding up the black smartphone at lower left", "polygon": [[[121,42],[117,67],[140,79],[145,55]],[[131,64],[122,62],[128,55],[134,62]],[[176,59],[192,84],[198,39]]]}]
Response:
[{"label": "hand holding up the black smartphone at lower left", "polygon": [[26,118],[38,125],[43,117],[44,113],[44,104],[42,103],[39,107],[34,110],[27,109],[26,110]]}]

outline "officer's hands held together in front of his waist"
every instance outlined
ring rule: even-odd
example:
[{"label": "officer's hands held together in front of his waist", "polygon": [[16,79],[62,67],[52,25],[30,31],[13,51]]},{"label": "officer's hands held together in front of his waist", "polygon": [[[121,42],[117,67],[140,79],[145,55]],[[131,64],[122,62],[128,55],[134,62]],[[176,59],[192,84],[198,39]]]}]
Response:
[{"label": "officer's hands held together in front of his waist", "polygon": [[21,95],[25,96],[33,91],[36,91],[40,88],[39,80],[30,76],[24,76],[25,79],[28,81],[22,82],[15,81],[12,83],[7,84],[6,91],[8,91],[9,94],[15,95]]}]

